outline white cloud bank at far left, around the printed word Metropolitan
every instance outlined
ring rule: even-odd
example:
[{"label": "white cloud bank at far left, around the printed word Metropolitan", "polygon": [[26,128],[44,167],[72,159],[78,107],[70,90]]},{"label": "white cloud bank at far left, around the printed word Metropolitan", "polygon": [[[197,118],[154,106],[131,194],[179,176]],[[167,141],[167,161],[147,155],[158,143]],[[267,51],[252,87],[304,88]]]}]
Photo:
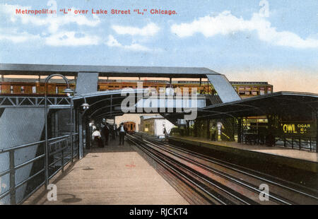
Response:
[{"label": "white cloud bank at far left, around the printed word Metropolitan", "polygon": [[[0,40],[9,40],[13,43],[36,40],[36,42],[42,42],[44,45],[57,47],[98,45],[101,42],[100,37],[86,34],[85,32],[58,31],[60,26],[70,23],[94,27],[100,23],[97,16],[93,19],[88,19],[86,16],[75,16],[72,13],[62,16],[16,14],[16,9],[19,8],[21,10],[32,9],[30,6],[0,4],[0,13],[8,16],[12,23],[17,23],[20,20],[20,23],[24,25],[46,26],[47,30],[42,31],[41,35],[33,35],[29,32],[18,31],[17,28],[0,29]],[[72,10],[74,10],[74,8],[72,8]]]}]

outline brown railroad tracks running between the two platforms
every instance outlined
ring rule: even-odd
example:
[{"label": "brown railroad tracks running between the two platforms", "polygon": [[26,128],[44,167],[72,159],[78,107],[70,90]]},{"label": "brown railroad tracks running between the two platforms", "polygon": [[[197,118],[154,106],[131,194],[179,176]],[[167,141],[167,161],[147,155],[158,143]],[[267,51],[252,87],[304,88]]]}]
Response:
[{"label": "brown railroad tracks running between the two platforms", "polygon": [[[187,199],[201,204],[318,204],[318,191],[299,189],[244,167],[135,134],[131,143],[165,169],[175,187],[191,189]],[[260,188],[266,185],[269,192]],[[269,199],[264,200],[267,196]]]}]

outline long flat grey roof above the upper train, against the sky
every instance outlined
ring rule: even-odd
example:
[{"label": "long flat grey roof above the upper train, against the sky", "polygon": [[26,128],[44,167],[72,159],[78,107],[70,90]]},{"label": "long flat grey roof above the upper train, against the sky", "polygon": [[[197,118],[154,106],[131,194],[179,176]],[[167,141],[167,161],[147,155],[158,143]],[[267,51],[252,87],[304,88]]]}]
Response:
[{"label": "long flat grey roof above the upper train, against the sky", "polygon": [[78,72],[99,73],[99,76],[110,77],[206,78],[209,74],[220,75],[211,69],[192,67],[0,64],[0,74],[3,75],[48,76],[60,73],[64,76],[77,76]]}]

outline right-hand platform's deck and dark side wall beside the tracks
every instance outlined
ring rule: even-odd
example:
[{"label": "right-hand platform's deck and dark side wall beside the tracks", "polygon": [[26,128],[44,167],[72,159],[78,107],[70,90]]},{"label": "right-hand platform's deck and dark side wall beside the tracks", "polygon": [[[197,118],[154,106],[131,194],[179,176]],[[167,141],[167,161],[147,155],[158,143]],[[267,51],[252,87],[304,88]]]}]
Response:
[{"label": "right-hand platform's deck and dark side wall beside the tracks", "polygon": [[[317,185],[318,172],[318,153],[305,150],[295,150],[292,148],[282,148],[280,146],[259,146],[247,145],[233,141],[211,141],[206,138],[195,138],[192,136],[169,136],[168,141],[175,145],[187,145],[191,150],[199,153],[208,153],[209,155],[223,154],[228,157],[228,161],[239,160],[238,165],[249,165],[249,168],[264,168],[264,172],[270,170],[271,174],[278,173],[278,177],[293,178],[289,173],[283,172],[282,167],[290,167],[293,169],[294,175],[300,175],[303,172],[303,177],[306,177],[306,172],[315,179],[309,179],[313,184]],[[256,167],[257,166],[257,167]],[[301,177],[300,177],[301,178]],[[297,182],[298,179],[295,181]],[[299,182],[302,184],[303,182]]]}]

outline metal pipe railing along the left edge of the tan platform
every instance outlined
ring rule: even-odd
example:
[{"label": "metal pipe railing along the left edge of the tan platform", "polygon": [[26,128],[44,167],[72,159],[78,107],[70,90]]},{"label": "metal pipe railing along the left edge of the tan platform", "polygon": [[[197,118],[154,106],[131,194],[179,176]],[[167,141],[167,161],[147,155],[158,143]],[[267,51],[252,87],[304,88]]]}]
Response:
[{"label": "metal pipe railing along the left edge of the tan platform", "polygon": [[[60,170],[64,172],[64,167],[72,160],[72,151],[73,158],[78,155],[78,133],[72,136],[73,138],[71,135],[65,135],[49,139],[48,179],[52,179]],[[73,150],[71,150],[71,139],[73,139]],[[32,147],[35,148],[32,149]],[[35,153],[33,158],[20,161],[23,160],[22,154],[27,157],[32,151]],[[0,167],[0,204],[23,203],[45,184],[47,180],[45,175],[45,140],[0,149],[0,156],[3,156],[2,160],[6,161]],[[1,168],[6,168],[6,170],[1,170]],[[23,172],[24,174],[30,172],[30,174],[22,179],[17,179],[21,178]],[[4,179],[4,182],[1,179]],[[18,191],[19,189],[20,191]]]}]

